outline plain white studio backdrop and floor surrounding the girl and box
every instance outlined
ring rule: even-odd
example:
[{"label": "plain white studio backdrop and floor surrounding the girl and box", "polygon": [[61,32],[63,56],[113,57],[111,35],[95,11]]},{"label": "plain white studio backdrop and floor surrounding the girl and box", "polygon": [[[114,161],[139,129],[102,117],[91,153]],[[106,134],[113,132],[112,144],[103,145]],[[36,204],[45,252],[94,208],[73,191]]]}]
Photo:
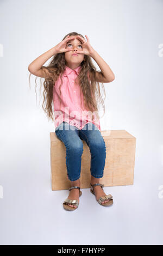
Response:
[{"label": "plain white studio backdrop and floor surrounding the girl and box", "polygon": [[[0,1],[2,245],[162,245],[162,11],[162,0]],[[86,34],[115,74],[102,130],[136,137],[134,185],[105,187],[110,208],[87,188],[68,212],[68,191],[51,189],[54,123],[28,65],[70,32]]]}]

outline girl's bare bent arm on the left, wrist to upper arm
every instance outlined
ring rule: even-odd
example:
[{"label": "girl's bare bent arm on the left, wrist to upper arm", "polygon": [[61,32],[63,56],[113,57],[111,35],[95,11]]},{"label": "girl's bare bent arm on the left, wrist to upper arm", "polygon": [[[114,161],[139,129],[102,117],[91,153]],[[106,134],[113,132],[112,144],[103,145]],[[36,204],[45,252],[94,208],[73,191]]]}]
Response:
[{"label": "girl's bare bent arm on the left, wrist to upper arm", "polygon": [[[49,58],[51,58],[54,54],[56,54],[57,51],[55,50],[55,47],[51,48],[47,52],[41,54],[39,57],[37,57],[32,63],[28,66],[28,71],[39,77],[45,77],[45,72],[43,72],[43,64],[47,62]],[[51,77],[50,72],[46,69],[46,73],[49,77]]]}]

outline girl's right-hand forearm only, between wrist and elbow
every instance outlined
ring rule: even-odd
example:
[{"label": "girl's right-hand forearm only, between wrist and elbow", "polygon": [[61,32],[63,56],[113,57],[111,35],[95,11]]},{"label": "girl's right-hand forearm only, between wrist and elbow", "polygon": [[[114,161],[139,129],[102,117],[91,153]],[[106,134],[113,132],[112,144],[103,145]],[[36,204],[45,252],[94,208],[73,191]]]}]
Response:
[{"label": "girl's right-hand forearm only, between wrist and elbow", "polygon": [[90,57],[92,57],[95,60],[95,62],[98,64],[106,80],[112,81],[115,79],[115,75],[110,69],[109,65],[105,62],[105,60],[101,56],[99,56],[99,54],[95,50],[93,50],[93,52],[90,54]]}]

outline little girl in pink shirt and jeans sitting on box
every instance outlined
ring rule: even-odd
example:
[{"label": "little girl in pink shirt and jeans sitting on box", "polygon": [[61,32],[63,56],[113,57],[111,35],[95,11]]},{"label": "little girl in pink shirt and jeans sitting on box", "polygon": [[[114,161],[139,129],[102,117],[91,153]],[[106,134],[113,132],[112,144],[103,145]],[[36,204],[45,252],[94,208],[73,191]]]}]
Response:
[{"label": "little girl in pink shirt and jeans sitting on box", "polygon": [[[101,135],[97,102],[103,104],[99,82],[102,85],[112,82],[115,76],[85,36],[86,40],[76,32],[67,34],[59,44],[28,66],[31,74],[45,78],[43,103],[46,96],[46,106],[43,110],[53,120],[53,102],[55,134],[66,147],[67,177],[71,181],[70,194],[63,203],[66,210],[77,209],[82,195],[79,180],[82,141],[87,143],[91,153],[91,192],[99,204],[113,203],[111,194],[106,195],[104,185],[99,183],[105,167],[106,147]],[[43,66],[52,56],[51,63]],[[96,71],[91,58],[98,64],[100,72]]]}]

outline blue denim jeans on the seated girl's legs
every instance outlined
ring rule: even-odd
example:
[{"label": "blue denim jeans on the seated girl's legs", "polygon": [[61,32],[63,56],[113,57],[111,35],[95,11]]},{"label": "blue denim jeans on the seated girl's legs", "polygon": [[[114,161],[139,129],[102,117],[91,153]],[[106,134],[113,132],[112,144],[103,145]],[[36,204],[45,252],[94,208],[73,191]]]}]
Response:
[{"label": "blue denim jeans on the seated girl's legs", "polygon": [[91,154],[91,175],[95,178],[102,178],[105,159],[106,147],[101,131],[97,126],[88,123],[82,130],[76,126],[70,125],[63,121],[55,129],[56,136],[64,142],[66,147],[66,167],[67,177],[74,181],[80,178],[81,162],[83,154],[83,142],[85,141],[90,149]]}]

